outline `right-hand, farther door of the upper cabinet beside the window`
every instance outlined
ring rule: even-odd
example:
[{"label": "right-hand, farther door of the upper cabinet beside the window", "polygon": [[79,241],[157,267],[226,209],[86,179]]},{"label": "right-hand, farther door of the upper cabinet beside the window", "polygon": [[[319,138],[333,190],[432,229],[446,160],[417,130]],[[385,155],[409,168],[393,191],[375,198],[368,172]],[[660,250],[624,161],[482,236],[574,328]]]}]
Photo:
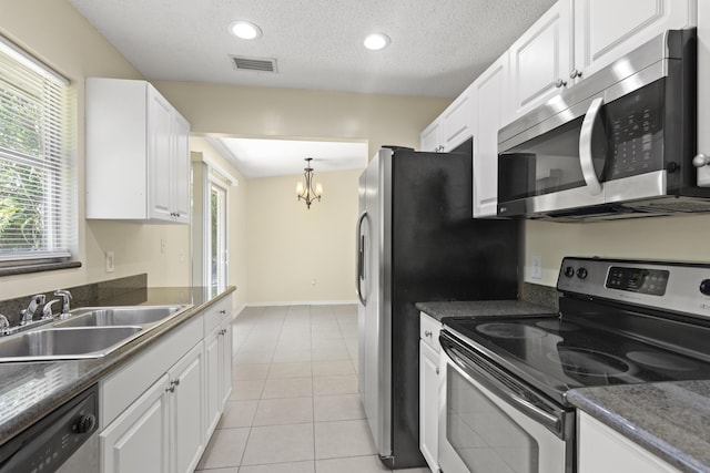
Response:
[{"label": "right-hand, farther door of the upper cabinet beside the window", "polygon": [[190,123],[178,112],[174,116],[173,196],[174,220],[190,223]]}]

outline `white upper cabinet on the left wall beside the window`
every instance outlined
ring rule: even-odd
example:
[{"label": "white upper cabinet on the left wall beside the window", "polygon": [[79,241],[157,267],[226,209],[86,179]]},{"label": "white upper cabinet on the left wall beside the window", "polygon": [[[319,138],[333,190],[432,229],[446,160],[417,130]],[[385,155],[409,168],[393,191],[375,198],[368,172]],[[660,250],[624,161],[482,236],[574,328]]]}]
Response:
[{"label": "white upper cabinet on the left wall beside the window", "polygon": [[190,223],[189,140],[148,82],[87,79],[87,218]]}]

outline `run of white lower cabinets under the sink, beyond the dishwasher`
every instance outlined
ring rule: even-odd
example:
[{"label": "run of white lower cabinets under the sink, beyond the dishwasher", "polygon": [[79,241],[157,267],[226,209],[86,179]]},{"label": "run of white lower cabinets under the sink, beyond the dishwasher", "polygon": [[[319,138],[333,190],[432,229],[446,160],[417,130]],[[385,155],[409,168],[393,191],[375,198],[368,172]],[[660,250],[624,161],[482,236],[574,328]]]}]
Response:
[{"label": "run of white lower cabinets under the sink, beyond the dishwasher", "polygon": [[231,310],[222,299],[100,382],[102,473],[195,470],[232,389]]}]

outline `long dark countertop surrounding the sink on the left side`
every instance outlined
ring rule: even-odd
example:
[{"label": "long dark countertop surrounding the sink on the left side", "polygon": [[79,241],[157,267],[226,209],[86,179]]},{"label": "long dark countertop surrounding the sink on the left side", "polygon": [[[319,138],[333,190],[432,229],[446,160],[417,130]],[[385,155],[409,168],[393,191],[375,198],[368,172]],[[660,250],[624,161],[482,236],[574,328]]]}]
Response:
[{"label": "long dark countertop surrounding the sink on the left side", "polygon": [[92,301],[97,306],[180,304],[192,305],[192,307],[103,358],[0,363],[0,444],[90,388],[160,337],[234,290],[234,287],[223,291],[206,287],[149,288]]}]

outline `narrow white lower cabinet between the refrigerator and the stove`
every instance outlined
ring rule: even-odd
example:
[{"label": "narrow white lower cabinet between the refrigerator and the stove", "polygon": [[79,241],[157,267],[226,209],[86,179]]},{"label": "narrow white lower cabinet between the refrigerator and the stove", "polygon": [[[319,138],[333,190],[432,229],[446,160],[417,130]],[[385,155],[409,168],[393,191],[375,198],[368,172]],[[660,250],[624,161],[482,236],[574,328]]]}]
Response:
[{"label": "narrow white lower cabinet between the refrigerator and the stove", "polygon": [[439,471],[439,329],[442,323],[422,312],[419,338],[419,451],[433,472]]}]

